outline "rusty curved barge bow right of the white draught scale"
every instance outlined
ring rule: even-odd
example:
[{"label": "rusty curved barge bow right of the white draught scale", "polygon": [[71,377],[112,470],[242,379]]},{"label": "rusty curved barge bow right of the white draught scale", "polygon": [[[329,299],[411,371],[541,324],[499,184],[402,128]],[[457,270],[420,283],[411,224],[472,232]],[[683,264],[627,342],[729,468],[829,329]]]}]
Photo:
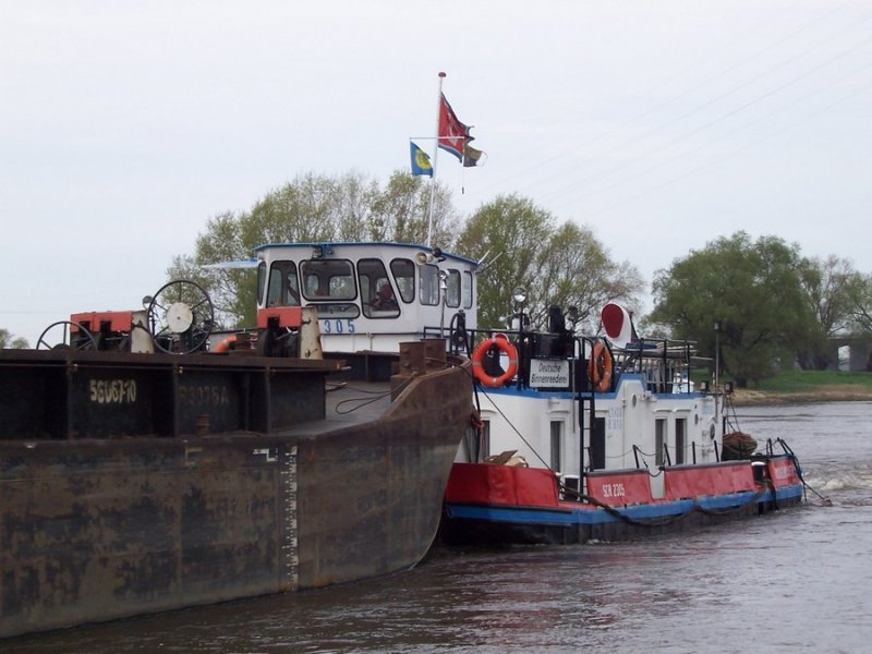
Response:
[{"label": "rusty curved barge bow right of the white draught scale", "polygon": [[301,585],[390,572],[426,554],[472,405],[468,368],[445,373],[410,384],[365,439],[349,429],[300,444]]}]

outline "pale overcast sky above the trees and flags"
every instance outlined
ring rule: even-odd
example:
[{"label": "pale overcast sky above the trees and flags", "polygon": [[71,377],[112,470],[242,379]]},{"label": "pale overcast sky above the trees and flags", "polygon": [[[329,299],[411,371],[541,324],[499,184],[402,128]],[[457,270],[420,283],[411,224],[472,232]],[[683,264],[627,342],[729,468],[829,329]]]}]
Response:
[{"label": "pale overcast sky above the trees and flags", "polygon": [[872,0],[0,0],[0,327],[138,307],[299,174],[408,170],[439,71],[464,216],[530,197],[649,284],[738,230],[872,272]]}]

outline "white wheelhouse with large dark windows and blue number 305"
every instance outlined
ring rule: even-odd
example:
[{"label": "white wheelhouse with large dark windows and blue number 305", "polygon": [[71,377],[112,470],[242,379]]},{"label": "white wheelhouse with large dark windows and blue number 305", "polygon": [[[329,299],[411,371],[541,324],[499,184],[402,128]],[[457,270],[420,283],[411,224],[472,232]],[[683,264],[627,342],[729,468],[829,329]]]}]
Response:
[{"label": "white wheelhouse with large dark windows and blue number 305", "polygon": [[477,262],[403,243],[282,243],[255,251],[258,308],[313,307],[329,352],[397,351],[462,311],[475,328]]}]

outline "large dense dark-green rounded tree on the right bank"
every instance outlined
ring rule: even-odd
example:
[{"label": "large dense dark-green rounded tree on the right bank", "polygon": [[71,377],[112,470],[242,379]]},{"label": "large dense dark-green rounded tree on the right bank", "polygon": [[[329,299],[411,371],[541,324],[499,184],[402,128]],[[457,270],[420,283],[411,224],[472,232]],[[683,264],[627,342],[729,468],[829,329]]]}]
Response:
[{"label": "large dense dark-green rounded tree on the right bank", "polygon": [[653,323],[676,338],[698,339],[714,358],[718,322],[723,370],[740,387],[792,361],[814,317],[798,274],[796,245],[746,232],[722,237],[656,274]]}]

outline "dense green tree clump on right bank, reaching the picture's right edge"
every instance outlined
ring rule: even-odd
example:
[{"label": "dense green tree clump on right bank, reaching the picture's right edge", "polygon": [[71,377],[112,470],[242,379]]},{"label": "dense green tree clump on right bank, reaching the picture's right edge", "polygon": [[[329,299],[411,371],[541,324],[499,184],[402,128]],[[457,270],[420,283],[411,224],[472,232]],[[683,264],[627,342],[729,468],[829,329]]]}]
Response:
[{"label": "dense green tree clump on right bank, reaching the picture's right edge", "polygon": [[872,275],[835,255],[804,257],[777,237],[720,237],[658,271],[653,296],[646,326],[699,339],[702,352],[719,347],[739,386],[779,366],[825,370],[837,363],[831,339],[872,331]]}]

